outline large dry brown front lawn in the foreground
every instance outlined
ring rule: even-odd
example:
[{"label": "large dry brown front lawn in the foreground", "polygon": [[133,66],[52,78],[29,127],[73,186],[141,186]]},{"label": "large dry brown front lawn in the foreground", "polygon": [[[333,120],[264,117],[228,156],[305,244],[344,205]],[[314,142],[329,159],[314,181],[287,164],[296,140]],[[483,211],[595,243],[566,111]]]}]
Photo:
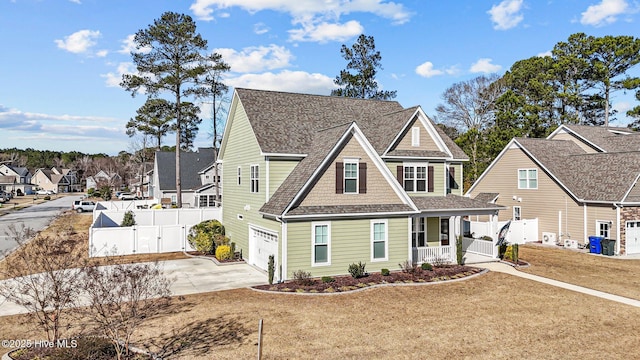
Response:
[{"label": "large dry brown front lawn in the foreground", "polygon": [[[580,304],[577,306],[576,304]],[[168,359],[613,359],[637,354],[640,309],[506,274],[334,296],[249,289],[175,298],[136,345]],[[24,316],[0,339],[41,338]]]}]

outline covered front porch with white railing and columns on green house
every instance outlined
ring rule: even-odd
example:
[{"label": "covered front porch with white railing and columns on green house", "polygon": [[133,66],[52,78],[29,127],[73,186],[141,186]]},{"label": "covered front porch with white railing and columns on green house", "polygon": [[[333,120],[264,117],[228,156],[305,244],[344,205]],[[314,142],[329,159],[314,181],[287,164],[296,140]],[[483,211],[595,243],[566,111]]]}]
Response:
[{"label": "covered front porch with white railing and columns on green house", "polygon": [[461,241],[463,263],[495,261],[498,239],[473,238],[465,229],[464,220],[471,215],[489,215],[497,231],[498,211],[502,207],[467,197],[412,197],[421,213],[412,216],[411,257],[415,264],[428,262],[456,263],[456,240]]}]

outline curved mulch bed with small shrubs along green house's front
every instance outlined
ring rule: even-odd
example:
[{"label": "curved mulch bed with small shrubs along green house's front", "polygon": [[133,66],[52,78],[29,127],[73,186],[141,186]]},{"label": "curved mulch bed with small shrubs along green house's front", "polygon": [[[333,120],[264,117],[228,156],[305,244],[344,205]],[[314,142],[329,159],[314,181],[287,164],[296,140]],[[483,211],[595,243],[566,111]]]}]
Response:
[{"label": "curved mulch bed with small shrubs along green house's front", "polygon": [[461,265],[448,265],[434,267],[433,270],[416,268],[413,272],[394,271],[386,276],[376,272],[357,279],[350,275],[343,275],[331,277],[333,281],[330,282],[324,282],[322,279],[314,278],[306,282],[292,280],[272,285],[258,285],[253,288],[274,292],[336,293],[358,290],[380,284],[411,284],[460,279],[480,272],[482,272],[482,269]]}]

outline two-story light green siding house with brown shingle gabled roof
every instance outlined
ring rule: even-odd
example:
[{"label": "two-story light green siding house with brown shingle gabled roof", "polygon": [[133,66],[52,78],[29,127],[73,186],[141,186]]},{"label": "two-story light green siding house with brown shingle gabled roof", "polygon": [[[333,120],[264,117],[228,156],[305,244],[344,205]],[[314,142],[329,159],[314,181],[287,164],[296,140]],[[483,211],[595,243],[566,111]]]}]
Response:
[{"label": "two-story light green siding house with brown shingle gabled roof", "polygon": [[278,280],[455,262],[463,218],[502,209],[462,196],[467,156],[395,101],[238,88],[219,158],[227,235]]}]

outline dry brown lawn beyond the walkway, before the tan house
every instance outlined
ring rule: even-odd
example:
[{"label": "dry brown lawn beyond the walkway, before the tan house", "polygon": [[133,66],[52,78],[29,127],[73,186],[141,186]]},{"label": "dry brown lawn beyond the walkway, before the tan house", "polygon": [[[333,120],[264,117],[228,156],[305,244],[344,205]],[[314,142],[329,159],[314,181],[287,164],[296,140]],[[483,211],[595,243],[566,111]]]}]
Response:
[{"label": "dry brown lawn beyond the walkway, before the tan house", "polygon": [[522,246],[519,255],[531,264],[524,272],[640,300],[640,260],[539,245]]}]

